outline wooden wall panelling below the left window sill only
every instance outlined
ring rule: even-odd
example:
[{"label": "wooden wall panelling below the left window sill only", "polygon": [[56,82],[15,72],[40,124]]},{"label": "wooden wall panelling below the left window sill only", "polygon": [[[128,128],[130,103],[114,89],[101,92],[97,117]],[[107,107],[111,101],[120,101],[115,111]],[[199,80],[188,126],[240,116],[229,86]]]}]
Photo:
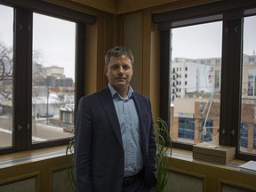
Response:
[{"label": "wooden wall panelling below the left window sill only", "polygon": [[61,177],[62,183],[66,182],[68,185],[66,172],[70,164],[62,150],[56,155],[45,153],[44,156],[29,156],[26,159],[18,157],[14,162],[6,161],[0,168],[1,192],[63,192],[54,188],[60,185],[56,183],[59,182],[56,176]]}]

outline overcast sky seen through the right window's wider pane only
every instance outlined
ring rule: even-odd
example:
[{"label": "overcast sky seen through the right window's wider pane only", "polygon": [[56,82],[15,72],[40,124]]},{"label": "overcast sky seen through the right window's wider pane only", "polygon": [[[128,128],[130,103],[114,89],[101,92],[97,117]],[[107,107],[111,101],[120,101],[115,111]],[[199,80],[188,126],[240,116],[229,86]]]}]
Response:
[{"label": "overcast sky seen through the right window's wider pane only", "polygon": [[172,29],[172,58],[221,56],[222,22]]}]

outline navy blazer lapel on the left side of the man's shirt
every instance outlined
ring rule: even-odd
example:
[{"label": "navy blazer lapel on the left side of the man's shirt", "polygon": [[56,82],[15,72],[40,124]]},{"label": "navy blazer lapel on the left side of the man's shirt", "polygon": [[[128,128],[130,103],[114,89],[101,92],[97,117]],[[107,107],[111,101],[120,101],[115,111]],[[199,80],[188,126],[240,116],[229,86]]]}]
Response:
[{"label": "navy blazer lapel on the left side of the man's shirt", "polygon": [[123,148],[120,124],[118,121],[118,117],[116,115],[116,108],[113,103],[111,92],[108,90],[108,87],[106,87],[100,93],[101,93],[100,94],[101,104],[106,112],[106,115],[108,116],[108,120],[109,120],[114,132],[116,133],[116,138]]}]

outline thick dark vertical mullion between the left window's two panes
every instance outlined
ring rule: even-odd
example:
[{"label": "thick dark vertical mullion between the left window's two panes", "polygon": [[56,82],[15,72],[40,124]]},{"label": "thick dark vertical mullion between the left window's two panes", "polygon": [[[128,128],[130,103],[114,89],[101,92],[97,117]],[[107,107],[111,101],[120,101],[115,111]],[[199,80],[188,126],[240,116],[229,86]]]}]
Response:
[{"label": "thick dark vertical mullion between the left window's two panes", "polygon": [[26,9],[16,8],[14,14],[14,146],[27,148],[28,116],[28,18]]}]

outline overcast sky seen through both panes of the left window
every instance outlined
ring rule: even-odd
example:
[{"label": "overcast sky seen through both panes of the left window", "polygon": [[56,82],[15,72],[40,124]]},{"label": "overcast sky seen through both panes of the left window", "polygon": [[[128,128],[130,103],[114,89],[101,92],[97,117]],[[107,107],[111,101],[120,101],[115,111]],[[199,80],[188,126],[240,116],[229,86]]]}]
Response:
[{"label": "overcast sky seen through both panes of the left window", "polygon": [[[33,50],[40,52],[44,67],[63,67],[75,80],[76,23],[36,13],[33,19]],[[0,43],[6,46],[12,46],[12,20],[12,8],[0,5]]]}]

